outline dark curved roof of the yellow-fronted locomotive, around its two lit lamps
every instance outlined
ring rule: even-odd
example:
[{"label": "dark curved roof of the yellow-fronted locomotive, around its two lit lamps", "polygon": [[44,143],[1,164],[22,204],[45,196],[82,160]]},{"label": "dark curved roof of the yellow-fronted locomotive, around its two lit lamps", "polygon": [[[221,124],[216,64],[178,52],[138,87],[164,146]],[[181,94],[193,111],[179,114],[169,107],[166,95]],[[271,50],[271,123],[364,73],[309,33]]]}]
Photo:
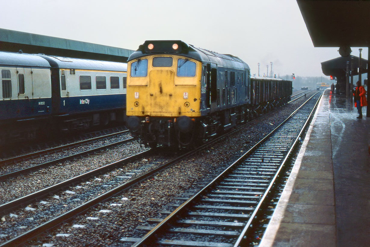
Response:
[{"label": "dark curved roof of the yellow-fronted locomotive, around its two lit lamps", "polygon": [[[155,46],[163,48],[161,50],[148,50],[146,47],[148,44],[153,43]],[[169,47],[166,47],[165,44],[176,43],[178,44],[179,51],[174,51]],[[139,57],[144,57],[148,55],[155,54],[179,54],[181,56],[189,57],[198,61],[216,63],[220,67],[232,67],[235,69],[249,69],[248,64],[239,57],[232,56],[230,54],[219,54],[213,51],[201,49],[194,47],[193,45],[186,44],[181,40],[147,40],[144,44],[139,46],[139,49],[129,56],[127,61],[137,59]]]}]

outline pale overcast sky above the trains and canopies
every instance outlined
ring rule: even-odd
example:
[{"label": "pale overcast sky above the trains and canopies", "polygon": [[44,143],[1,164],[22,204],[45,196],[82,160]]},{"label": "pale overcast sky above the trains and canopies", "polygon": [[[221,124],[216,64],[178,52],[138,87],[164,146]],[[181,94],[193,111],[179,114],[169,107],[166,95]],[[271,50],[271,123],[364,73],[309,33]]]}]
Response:
[{"label": "pale overcast sky above the trains and canopies", "polygon": [[252,74],[273,62],[276,76],[324,76],[320,63],[340,56],[313,47],[296,0],[5,0],[1,9],[3,29],[131,50],[182,40],[238,56]]}]

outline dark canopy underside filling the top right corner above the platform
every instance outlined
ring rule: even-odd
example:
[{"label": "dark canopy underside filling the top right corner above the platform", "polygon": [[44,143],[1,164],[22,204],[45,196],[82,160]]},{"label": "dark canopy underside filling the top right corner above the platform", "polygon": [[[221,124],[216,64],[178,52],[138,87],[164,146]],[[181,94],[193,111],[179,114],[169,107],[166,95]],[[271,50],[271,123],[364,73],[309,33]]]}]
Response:
[{"label": "dark canopy underside filling the top right corner above the platform", "polygon": [[314,47],[369,47],[370,1],[297,0]]}]

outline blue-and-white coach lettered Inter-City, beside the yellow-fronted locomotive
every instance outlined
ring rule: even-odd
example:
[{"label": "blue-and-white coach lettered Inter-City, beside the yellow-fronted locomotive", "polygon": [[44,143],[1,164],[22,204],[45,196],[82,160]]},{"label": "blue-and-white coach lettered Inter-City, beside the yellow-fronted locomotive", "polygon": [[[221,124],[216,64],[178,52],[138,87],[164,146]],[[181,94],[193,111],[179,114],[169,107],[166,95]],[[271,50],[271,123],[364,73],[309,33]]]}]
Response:
[{"label": "blue-and-white coach lettered Inter-City, beside the yellow-fronted locomotive", "polygon": [[51,66],[53,117],[64,130],[124,120],[127,64],[39,55]]}]

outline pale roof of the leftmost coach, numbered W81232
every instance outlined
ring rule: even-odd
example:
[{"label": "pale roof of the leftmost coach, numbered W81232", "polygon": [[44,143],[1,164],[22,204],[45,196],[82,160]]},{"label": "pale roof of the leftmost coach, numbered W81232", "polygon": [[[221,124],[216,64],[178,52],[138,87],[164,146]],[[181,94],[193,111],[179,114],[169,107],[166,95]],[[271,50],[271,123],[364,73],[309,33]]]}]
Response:
[{"label": "pale roof of the leftmost coach, numbered W81232", "polygon": [[0,66],[50,68],[50,64],[42,57],[34,54],[8,51],[0,51]]}]

